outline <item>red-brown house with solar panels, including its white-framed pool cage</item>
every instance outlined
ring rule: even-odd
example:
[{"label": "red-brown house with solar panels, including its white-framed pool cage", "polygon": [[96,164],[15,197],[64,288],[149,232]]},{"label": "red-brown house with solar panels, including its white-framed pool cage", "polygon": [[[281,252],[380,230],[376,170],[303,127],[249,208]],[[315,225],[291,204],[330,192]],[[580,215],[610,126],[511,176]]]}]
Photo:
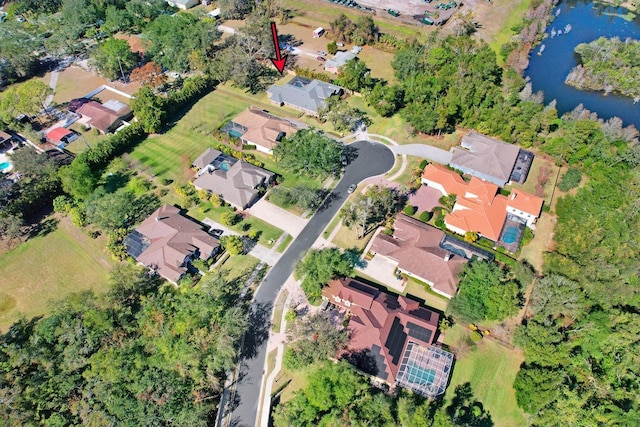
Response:
[{"label": "red-brown house with solar panels, including its white-framed pool cage", "polygon": [[430,398],[444,393],[453,355],[433,345],[438,313],[352,278],[331,280],[322,297],[350,313],[347,360],[363,361],[358,368],[392,386]]}]

